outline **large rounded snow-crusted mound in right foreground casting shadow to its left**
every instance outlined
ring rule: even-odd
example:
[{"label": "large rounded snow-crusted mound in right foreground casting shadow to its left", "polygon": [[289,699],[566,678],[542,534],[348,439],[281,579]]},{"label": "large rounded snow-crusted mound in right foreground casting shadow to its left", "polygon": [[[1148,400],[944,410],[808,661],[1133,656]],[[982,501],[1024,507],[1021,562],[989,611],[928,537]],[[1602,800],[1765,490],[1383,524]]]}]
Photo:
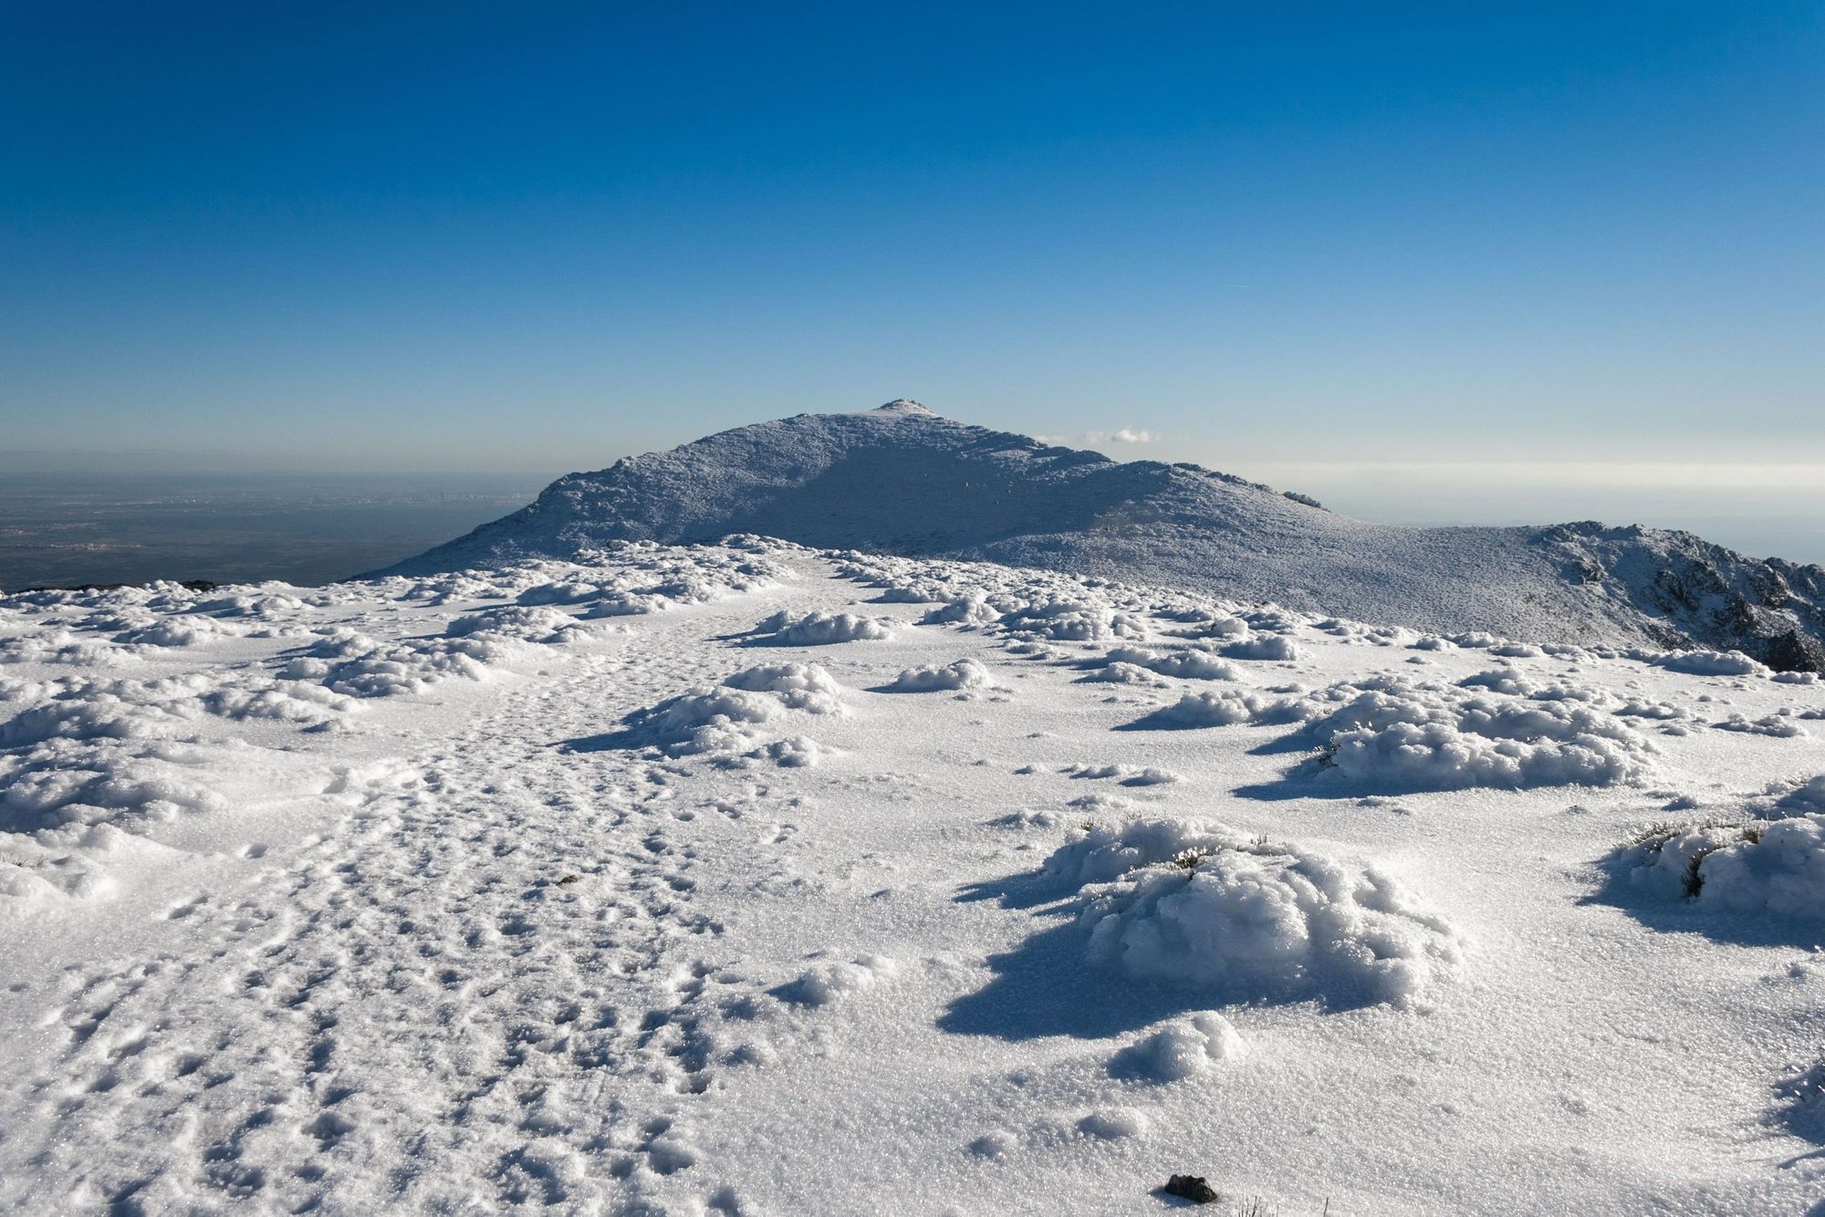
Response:
[{"label": "large rounded snow-crusted mound in right foreground casting shadow to its left", "polygon": [[1223,825],[1099,825],[1048,872],[1088,883],[1091,962],[1228,1000],[1411,1004],[1460,960],[1451,925],[1389,876]]}]

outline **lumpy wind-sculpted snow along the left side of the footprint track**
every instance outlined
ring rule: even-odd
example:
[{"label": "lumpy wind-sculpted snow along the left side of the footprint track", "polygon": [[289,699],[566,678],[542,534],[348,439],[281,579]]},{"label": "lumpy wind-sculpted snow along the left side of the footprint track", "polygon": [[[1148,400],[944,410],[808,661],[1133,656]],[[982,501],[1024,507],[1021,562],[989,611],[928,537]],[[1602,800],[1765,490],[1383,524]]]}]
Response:
[{"label": "lumpy wind-sculpted snow along the left side of the footprint track", "polygon": [[[243,755],[257,774],[297,746],[285,733],[336,733],[367,702],[422,699],[451,681],[484,684],[540,650],[573,648],[617,628],[584,617],[619,597],[639,595],[657,611],[772,586],[770,547],[615,546],[597,566],[529,562],[323,589],[153,584],[4,597],[0,834],[24,834],[11,848],[29,861],[15,867],[80,881],[47,889],[18,878],[0,892],[31,896],[33,907],[51,889],[99,892],[108,858],[120,852],[108,832],[232,810],[212,788],[228,757]],[[186,659],[208,648],[234,648],[235,659]],[[22,670],[36,675],[7,675]],[[834,682],[823,681],[783,695],[796,708],[814,697],[834,706]],[[277,735],[248,746],[235,724]],[[763,750],[781,765],[823,754],[803,739]]]}]

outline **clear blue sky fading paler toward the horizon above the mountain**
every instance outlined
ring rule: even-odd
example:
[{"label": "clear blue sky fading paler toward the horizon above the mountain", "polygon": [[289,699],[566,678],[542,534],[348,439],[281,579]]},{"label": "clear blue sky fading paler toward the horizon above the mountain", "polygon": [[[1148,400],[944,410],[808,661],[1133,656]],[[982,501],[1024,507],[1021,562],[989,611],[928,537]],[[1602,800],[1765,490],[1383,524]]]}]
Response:
[{"label": "clear blue sky fading paler toward the horizon above the mountain", "polygon": [[1825,462],[1825,5],[7,4],[15,449]]}]

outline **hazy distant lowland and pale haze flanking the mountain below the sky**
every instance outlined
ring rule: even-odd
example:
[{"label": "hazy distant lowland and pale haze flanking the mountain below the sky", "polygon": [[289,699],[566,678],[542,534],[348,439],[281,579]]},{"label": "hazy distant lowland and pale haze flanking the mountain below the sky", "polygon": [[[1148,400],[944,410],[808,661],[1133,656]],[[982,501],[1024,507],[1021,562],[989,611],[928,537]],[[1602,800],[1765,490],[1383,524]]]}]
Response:
[{"label": "hazy distant lowland and pale haze flanking the mountain below the sky", "polygon": [[[1163,440],[1100,447],[1117,460],[1188,460]],[[582,469],[628,454],[584,462]],[[102,462],[93,460],[88,469],[16,467],[33,456],[47,454],[11,452],[0,460],[0,588],[345,578],[500,518],[569,473],[186,471],[148,463],[144,452],[115,452],[111,469],[97,469]],[[1756,558],[1825,566],[1825,469],[1818,465],[1208,467],[1299,491],[1332,511],[1380,524],[1642,524],[1697,533]]]}]

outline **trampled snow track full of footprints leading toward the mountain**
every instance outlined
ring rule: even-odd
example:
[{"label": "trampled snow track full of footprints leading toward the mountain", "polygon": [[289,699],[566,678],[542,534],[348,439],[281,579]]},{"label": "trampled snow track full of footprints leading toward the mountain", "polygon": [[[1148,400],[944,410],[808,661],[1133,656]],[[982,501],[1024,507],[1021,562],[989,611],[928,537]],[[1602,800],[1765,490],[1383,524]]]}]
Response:
[{"label": "trampled snow track full of footprints leading toward the mountain", "polygon": [[575,1199],[604,1146],[613,1171],[684,1164],[683,1108],[710,1084],[692,1014],[721,932],[692,907],[710,841],[681,839],[666,766],[549,763],[553,732],[666,681],[602,668],[412,759],[297,869],[175,907],[204,958],[66,973],[7,1140],[38,1186],[9,1199],[495,1208]]}]

